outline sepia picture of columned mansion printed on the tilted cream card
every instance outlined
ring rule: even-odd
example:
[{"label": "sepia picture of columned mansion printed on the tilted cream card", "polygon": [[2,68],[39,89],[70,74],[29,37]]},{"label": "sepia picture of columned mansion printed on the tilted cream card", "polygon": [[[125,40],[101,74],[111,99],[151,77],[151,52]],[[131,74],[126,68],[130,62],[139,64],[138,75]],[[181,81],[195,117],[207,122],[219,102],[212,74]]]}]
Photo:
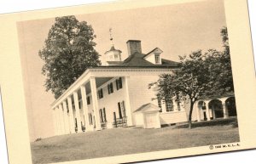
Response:
[{"label": "sepia picture of columned mansion printed on the tilted cream card", "polygon": [[225,7],[113,5],[16,21],[32,164],[239,149]]}]

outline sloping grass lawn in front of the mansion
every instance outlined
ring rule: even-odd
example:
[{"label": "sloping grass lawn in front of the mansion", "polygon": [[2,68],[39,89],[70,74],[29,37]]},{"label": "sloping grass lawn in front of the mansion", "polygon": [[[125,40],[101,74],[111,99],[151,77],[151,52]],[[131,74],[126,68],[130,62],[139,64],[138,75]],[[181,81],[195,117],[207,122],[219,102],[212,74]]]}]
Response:
[{"label": "sloping grass lawn in front of the mansion", "polygon": [[34,164],[239,142],[236,118],[160,129],[114,128],[31,143]]}]

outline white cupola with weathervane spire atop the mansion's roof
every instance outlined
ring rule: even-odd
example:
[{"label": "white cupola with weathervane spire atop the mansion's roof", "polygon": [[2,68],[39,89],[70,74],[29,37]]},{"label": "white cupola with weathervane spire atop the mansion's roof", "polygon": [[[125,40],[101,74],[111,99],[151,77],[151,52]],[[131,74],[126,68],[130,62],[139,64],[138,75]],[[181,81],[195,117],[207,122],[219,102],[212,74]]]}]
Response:
[{"label": "white cupola with weathervane spire atop the mansion's roof", "polygon": [[105,53],[107,57],[107,63],[108,65],[113,65],[115,62],[122,61],[121,60],[121,53],[119,49],[115,49],[113,46],[113,33],[112,28],[109,28],[109,37],[111,42],[111,48]]}]

